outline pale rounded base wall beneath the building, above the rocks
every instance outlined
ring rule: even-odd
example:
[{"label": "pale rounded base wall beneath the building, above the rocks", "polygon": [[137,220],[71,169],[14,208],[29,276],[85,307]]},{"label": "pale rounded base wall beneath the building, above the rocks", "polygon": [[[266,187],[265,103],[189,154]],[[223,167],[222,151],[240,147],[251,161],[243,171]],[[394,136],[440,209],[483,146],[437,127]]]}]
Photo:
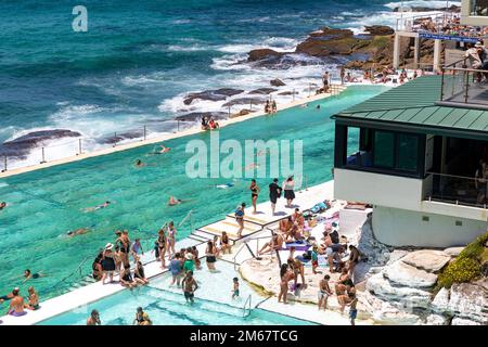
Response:
[{"label": "pale rounded base wall beneath the building, above the rocks", "polygon": [[383,206],[373,209],[374,235],[390,246],[464,246],[487,230],[487,221]]}]

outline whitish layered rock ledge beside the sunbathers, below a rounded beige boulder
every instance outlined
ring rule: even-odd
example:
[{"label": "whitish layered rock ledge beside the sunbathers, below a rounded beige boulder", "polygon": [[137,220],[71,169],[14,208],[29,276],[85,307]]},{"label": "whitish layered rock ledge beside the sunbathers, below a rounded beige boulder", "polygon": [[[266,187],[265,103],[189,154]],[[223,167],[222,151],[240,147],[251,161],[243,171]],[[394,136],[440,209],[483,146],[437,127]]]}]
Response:
[{"label": "whitish layered rock ledge beside the sunbathers, below a rounded beige boulder", "polygon": [[377,273],[367,282],[367,291],[386,301],[398,301],[401,306],[426,308],[431,304],[431,293],[406,286],[393,286],[391,283]]}]

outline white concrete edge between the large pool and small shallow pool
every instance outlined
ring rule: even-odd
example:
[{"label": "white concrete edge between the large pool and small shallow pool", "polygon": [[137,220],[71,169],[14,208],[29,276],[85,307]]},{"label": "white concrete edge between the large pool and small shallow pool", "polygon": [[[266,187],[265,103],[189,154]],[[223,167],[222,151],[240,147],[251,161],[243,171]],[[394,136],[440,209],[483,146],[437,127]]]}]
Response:
[{"label": "white concrete edge between the large pool and small shallow pool", "polygon": [[[294,204],[299,206],[300,209],[311,208],[313,205],[323,201],[325,198],[332,200],[334,196],[334,181],[328,181],[324,183],[320,183],[313,187],[310,187],[306,190],[296,192],[296,200]],[[284,208],[285,201],[284,198],[280,198],[277,204],[277,213],[284,211],[286,215],[283,215],[283,218],[291,215],[294,209],[293,208]],[[270,210],[269,202],[260,203],[258,206],[259,210],[268,213]],[[184,237],[180,240],[178,243],[183,243],[184,241],[189,241],[189,237]],[[197,244],[192,240],[194,244]],[[198,244],[200,254],[204,254],[203,247],[205,247],[204,243]],[[178,247],[178,245],[177,245]],[[235,252],[235,250],[234,250]],[[229,259],[226,259],[229,261]],[[151,261],[145,264],[145,273],[149,279],[160,275],[168,270],[162,270],[158,261]],[[114,280],[117,280],[118,277],[114,277]],[[98,301],[102,298],[111,296],[113,294],[119,293],[126,290],[119,283],[112,283],[103,285],[101,282],[97,282],[93,284],[89,284],[77,288],[75,291],[68,292],[61,296],[56,296],[54,298],[48,299],[46,301],[40,303],[40,309],[30,311],[27,310],[27,314],[22,317],[13,317],[13,316],[3,316],[0,317],[0,326],[1,325],[33,325],[46,321],[50,318],[60,316],[67,311],[82,308],[86,305]],[[8,301],[7,301],[8,304]],[[267,308],[268,310],[272,310],[272,308]],[[277,313],[280,313],[277,311]],[[308,314],[307,314],[308,316]],[[311,320],[309,317],[304,318],[305,320]],[[316,321],[320,323],[320,321]]]}]

